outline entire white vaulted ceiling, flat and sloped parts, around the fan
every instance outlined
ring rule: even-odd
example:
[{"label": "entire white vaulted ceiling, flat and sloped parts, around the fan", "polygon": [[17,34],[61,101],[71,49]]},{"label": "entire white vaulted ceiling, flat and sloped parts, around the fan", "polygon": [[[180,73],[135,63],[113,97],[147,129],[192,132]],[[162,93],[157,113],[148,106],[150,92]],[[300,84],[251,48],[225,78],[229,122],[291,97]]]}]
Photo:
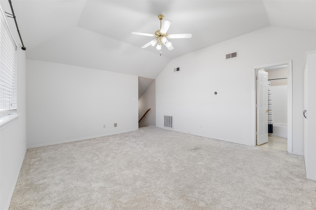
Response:
[{"label": "entire white vaulted ceiling, flat and sloped parts, around the fan", "polygon": [[[10,13],[7,0],[0,0]],[[316,32],[316,0],[12,0],[27,59],[156,78],[173,58],[279,26]],[[140,47],[152,40],[158,14],[172,21],[174,50]],[[8,19],[15,29],[13,19]],[[17,43],[20,40],[12,30]]]}]

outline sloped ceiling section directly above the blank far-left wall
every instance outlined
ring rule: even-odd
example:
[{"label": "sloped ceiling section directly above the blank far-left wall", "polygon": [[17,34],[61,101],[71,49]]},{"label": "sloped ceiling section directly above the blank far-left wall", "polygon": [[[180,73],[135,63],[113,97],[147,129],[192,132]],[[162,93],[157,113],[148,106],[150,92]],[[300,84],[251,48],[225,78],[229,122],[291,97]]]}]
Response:
[{"label": "sloped ceiling section directly above the blank far-left wall", "polygon": [[[62,43],[62,44],[61,44]],[[79,27],[28,52],[28,59],[155,78],[170,59]]]}]

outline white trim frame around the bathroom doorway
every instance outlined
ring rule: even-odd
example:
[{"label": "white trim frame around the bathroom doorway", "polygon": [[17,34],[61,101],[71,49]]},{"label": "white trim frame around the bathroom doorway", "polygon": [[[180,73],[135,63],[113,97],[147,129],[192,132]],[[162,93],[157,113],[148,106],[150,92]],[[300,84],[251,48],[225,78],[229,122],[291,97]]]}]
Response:
[{"label": "white trim frame around the bathroom doorway", "polygon": [[270,63],[265,65],[258,65],[252,67],[252,141],[251,146],[256,146],[256,140],[257,140],[257,69],[260,68],[267,68],[267,67],[273,67],[278,65],[287,65],[287,152],[292,153],[293,152],[293,123],[292,123],[292,115],[293,115],[293,107],[292,107],[292,60],[285,60],[281,62],[276,63]]}]

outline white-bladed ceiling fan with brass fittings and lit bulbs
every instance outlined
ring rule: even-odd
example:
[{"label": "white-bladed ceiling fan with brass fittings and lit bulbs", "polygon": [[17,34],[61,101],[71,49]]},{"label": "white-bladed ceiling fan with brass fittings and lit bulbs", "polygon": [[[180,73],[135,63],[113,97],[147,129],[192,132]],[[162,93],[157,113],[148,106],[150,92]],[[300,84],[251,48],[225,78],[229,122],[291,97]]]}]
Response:
[{"label": "white-bladed ceiling fan with brass fittings and lit bulbs", "polygon": [[[157,44],[157,50],[161,50],[161,43],[168,49],[173,50],[173,46],[171,42],[168,41],[169,39],[178,39],[178,38],[191,38],[192,33],[179,33],[179,34],[168,34],[167,30],[171,26],[171,21],[164,20],[161,24],[162,19],[164,18],[163,15],[158,15],[158,19],[160,20],[160,30],[156,30],[155,34],[150,33],[141,33],[141,32],[132,32],[132,34],[136,35],[143,35],[143,36],[152,36],[155,37],[152,41],[145,44],[142,48],[147,48],[148,46],[152,45],[153,47]],[[161,56],[161,51],[160,51]]]}]

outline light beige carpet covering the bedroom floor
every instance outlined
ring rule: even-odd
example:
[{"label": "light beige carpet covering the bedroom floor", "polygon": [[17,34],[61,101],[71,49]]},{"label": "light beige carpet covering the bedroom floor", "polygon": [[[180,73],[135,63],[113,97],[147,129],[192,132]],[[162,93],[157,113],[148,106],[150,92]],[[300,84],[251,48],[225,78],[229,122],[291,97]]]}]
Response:
[{"label": "light beige carpet covering the bedroom floor", "polygon": [[11,210],[315,210],[303,156],[156,127],[28,149]]}]

